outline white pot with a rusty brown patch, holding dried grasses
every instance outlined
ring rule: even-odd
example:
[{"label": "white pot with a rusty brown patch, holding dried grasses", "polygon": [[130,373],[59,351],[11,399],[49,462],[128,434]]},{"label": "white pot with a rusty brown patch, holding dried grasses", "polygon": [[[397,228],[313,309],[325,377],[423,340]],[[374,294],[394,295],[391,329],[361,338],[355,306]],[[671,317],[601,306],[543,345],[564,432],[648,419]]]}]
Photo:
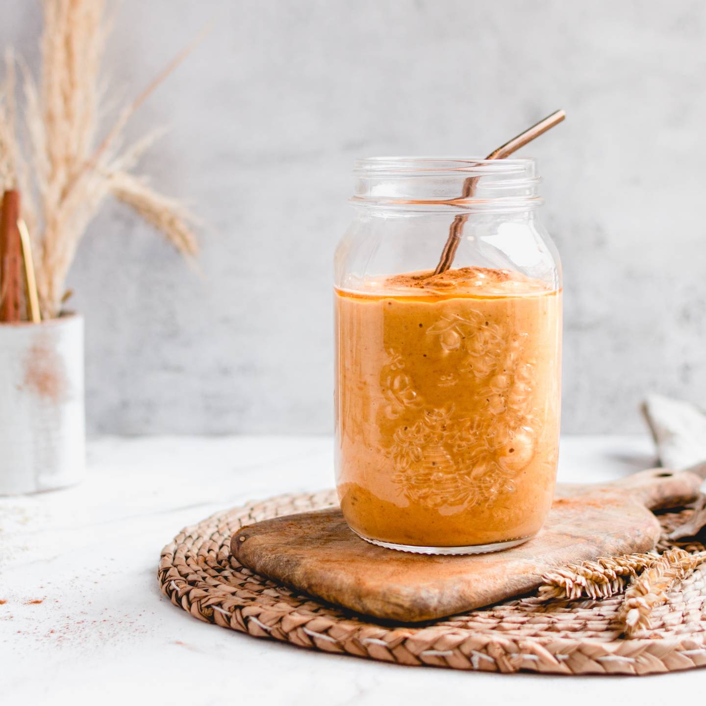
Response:
[{"label": "white pot with a rusty brown patch, holding dried grasses", "polygon": [[0,324],[0,495],[85,475],[83,317]]}]

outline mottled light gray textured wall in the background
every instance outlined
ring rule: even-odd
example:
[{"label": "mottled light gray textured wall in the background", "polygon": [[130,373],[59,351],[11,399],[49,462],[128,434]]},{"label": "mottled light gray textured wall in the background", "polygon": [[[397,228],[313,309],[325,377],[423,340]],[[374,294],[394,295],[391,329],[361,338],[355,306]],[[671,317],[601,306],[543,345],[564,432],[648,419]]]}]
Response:
[{"label": "mottled light gray textured wall in the background", "polygon": [[[36,61],[39,13],[3,43]],[[564,430],[642,429],[646,390],[706,391],[706,4],[124,0],[107,68],[132,95],[208,18],[145,104],[145,159],[208,221],[203,277],[126,211],[89,229],[93,432],[331,429],[331,258],[354,157],[487,152],[557,107],[532,147],[564,263]],[[285,288],[280,287],[285,282]]]}]

